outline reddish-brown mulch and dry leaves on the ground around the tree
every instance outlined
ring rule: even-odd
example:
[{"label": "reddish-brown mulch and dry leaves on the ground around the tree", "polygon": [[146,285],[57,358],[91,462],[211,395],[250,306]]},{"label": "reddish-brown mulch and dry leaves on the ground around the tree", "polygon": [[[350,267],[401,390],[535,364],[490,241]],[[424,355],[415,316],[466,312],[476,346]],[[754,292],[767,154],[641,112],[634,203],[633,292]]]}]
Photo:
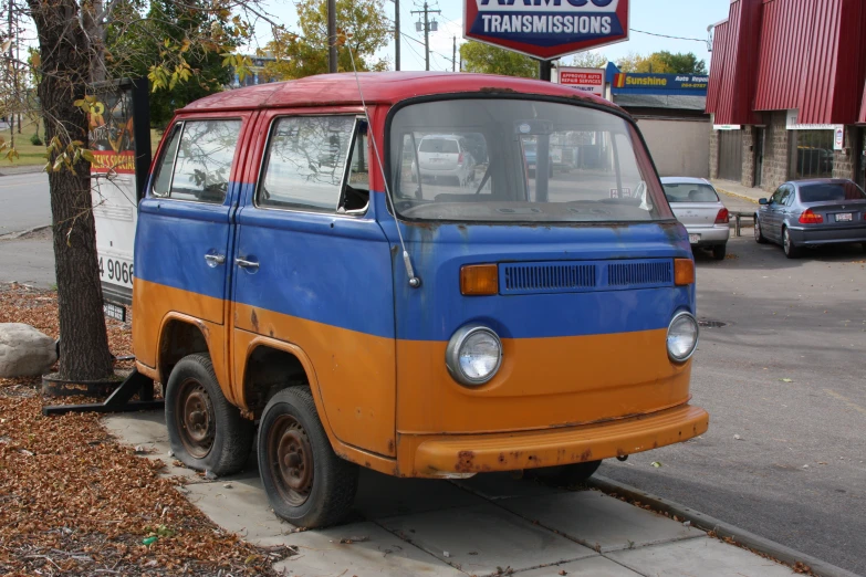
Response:
[{"label": "reddish-brown mulch and dry leaves on the ground around the tree", "polygon": [[[0,322],[56,337],[54,294],[0,291]],[[282,555],[219,529],[98,416],[43,417],[42,402],[38,379],[0,379],[0,575],[274,574]]]}]

